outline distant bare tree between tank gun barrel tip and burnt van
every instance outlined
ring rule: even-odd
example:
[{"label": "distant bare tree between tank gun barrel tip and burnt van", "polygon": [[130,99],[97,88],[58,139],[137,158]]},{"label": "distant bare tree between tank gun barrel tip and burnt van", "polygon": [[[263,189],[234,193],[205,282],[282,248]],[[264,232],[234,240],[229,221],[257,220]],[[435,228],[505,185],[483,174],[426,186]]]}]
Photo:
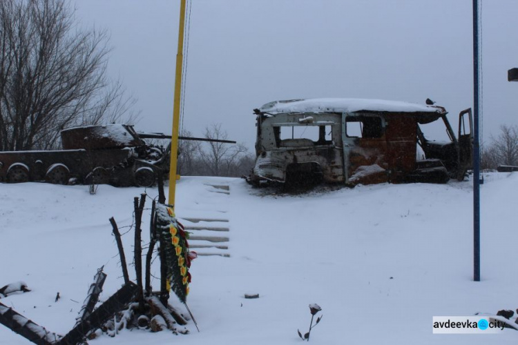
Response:
[{"label": "distant bare tree between tank gun barrel tip and burnt van", "polygon": [[[221,124],[213,124],[205,128],[205,137],[207,139],[221,139],[227,140],[228,134],[221,129]],[[230,176],[231,167],[240,159],[240,157],[247,153],[247,148],[243,144],[224,144],[218,142],[205,143],[204,146],[198,149],[200,160],[205,168],[207,168],[208,175],[212,176]]]}]

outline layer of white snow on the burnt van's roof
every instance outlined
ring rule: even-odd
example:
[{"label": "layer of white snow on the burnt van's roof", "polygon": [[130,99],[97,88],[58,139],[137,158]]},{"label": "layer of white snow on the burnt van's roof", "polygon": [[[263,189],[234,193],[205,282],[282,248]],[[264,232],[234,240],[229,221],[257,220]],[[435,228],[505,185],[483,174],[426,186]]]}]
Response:
[{"label": "layer of white snow on the burnt van's roof", "polygon": [[427,106],[402,101],[385,101],[383,99],[355,98],[314,98],[273,101],[260,108],[261,112],[271,115],[288,112],[432,112],[445,113],[439,106]]}]

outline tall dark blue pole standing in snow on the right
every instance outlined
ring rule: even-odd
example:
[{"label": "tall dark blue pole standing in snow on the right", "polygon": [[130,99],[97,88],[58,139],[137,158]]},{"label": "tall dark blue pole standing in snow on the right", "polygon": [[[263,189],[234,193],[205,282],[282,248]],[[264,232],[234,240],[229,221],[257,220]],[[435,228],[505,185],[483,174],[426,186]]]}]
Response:
[{"label": "tall dark blue pole standing in snow on the right", "polygon": [[473,280],[480,282],[479,1],[473,0]]}]

